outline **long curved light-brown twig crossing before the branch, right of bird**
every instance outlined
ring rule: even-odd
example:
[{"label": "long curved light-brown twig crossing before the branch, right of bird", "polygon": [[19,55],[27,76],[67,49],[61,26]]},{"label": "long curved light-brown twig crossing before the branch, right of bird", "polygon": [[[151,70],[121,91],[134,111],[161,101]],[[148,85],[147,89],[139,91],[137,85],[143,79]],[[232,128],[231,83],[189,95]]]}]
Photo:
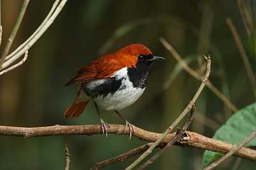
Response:
[{"label": "long curved light-brown twig crossing before the branch, right of bird", "polygon": [[200,93],[202,92],[202,89],[204,89],[204,86],[207,83],[209,75],[210,75],[210,72],[211,72],[211,58],[210,58],[210,56],[208,56],[206,61],[207,61],[207,63],[206,63],[206,71],[205,71],[204,79],[202,80],[202,83],[201,83],[200,87],[196,91],[195,96],[193,97],[191,102],[189,102],[189,104],[186,107],[186,109],[184,109],[184,111],[180,114],[180,116],[175,121],[173,121],[172,125],[167,128],[167,130],[164,132],[164,134],[159,139],[157,139],[157,141],[154,144],[152,144],[152,146],[150,146],[150,148],[148,148],[147,151],[145,151],[139,158],[137,158],[126,169],[132,169],[139,162],[141,162],[141,160],[143,160],[145,157],[147,157],[147,155],[152,153],[152,150],[157,146],[157,144],[161,143],[161,141],[164,139],[164,137],[166,137],[166,135],[170,134],[170,132],[172,132],[173,128],[176,127],[177,124],[182,120],[182,118],[184,118],[184,116],[186,116],[186,114],[191,110],[192,106],[195,104],[197,98],[199,97]]}]

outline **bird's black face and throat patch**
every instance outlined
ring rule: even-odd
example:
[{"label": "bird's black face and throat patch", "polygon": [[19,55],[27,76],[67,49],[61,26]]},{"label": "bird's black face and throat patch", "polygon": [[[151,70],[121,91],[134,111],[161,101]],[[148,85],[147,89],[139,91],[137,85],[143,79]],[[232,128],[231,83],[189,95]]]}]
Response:
[{"label": "bird's black face and throat patch", "polygon": [[138,56],[136,68],[128,68],[127,73],[134,88],[145,88],[147,84],[148,70],[153,61],[157,60],[154,58],[153,54],[148,56],[140,54],[140,56]]}]

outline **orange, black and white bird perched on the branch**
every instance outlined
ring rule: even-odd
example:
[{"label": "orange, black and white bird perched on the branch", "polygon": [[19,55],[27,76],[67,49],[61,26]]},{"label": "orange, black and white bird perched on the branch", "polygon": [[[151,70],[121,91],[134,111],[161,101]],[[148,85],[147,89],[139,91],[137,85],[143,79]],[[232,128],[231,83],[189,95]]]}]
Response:
[{"label": "orange, black and white bird perched on the branch", "polygon": [[162,59],[154,56],[145,45],[134,43],[92,61],[64,85],[79,85],[77,97],[65,111],[64,118],[77,118],[92,100],[102,133],[108,137],[107,123],[100,117],[98,106],[106,111],[115,111],[125,122],[124,131],[129,127],[131,139],[132,131],[135,130],[119,111],[141,97],[146,88],[150,66],[154,61]]}]

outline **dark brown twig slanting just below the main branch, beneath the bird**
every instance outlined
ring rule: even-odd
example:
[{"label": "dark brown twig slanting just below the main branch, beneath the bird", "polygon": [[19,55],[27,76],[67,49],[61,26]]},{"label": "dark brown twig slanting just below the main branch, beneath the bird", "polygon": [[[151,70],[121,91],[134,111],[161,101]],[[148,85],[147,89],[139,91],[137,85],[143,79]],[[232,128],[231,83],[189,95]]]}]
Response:
[{"label": "dark brown twig slanting just below the main branch, beneath the bird", "polygon": [[[109,158],[108,160],[99,162],[95,166],[93,166],[92,169],[101,169],[102,167],[106,167],[111,164],[116,164],[117,162],[123,162],[127,158],[134,157],[134,155],[138,155],[138,154],[142,153],[143,151],[146,151],[152,144],[153,143],[143,144],[142,146],[139,146],[138,148],[135,148],[131,151],[127,151],[126,153],[124,153],[122,155],[118,155],[117,157]],[[163,144],[159,144],[159,146],[157,146],[157,147],[162,147],[162,146],[163,146]]]}]

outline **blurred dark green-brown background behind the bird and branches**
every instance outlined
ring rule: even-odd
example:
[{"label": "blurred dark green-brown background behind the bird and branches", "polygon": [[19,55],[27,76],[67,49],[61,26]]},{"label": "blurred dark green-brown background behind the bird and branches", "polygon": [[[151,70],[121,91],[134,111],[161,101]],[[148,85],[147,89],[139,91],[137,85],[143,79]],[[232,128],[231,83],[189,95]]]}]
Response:
[{"label": "blurred dark green-brown background behind the bird and branches", "polygon": [[[53,3],[29,3],[12,50],[35,31]],[[250,4],[255,12],[255,1]],[[1,1],[1,51],[21,5],[22,1]],[[26,63],[0,77],[0,125],[98,124],[92,102],[79,118],[64,120],[63,112],[76,97],[77,86],[64,87],[63,84],[90,61],[131,43],[142,43],[166,60],[154,63],[142,97],[120,112],[137,127],[164,132],[188,105],[200,82],[182,71],[164,88],[177,61],[161,45],[160,36],[196,70],[202,54],[211,54],[212,83],[239,109],[252,104],[255,97],[227,26],[227,17],[234,22],[255,71],[255,49],[246,33],[237,1],[68,1],[52,26],[31,47]],[[116,35],[117,30],[124,32]],[[109,48],[102,49],[107,42],[111,42]],[[114,112],[100,112],[108,123],[123,123]],[[188,130],[212,137],[231,114],[223,102],[205,88],[196,101],[195,119]],[[108,138],[70,135],[27,140],[1,136],[0,169],[63,169],[65,144],[70,150],[70,169],[88,169],[95,162],[125,153],[145,141],[136,137],[129,141],[129,137],[112,134]],[[203,153],[204,150],[173,146],[147,169],[201,169]],[[106,169],[124,169],[133,161],[134,158],[130,158]],[[232,169],[236,162],[237,158],[228,158],[217,169]],[[253,166],[255,163],[241,160],[238,169]]]}]

